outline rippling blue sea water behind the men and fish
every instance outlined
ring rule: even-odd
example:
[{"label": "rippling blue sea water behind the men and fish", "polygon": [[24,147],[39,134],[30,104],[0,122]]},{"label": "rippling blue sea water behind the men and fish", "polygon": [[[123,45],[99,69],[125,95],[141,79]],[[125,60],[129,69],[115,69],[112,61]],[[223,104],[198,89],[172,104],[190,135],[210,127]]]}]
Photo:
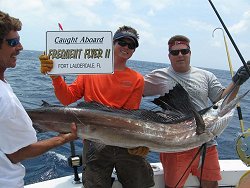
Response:
[{"label": "rippling blue sea water behind the men and fish", "polygon": [[[38,108],[42,104],[42,100],[45,100],[51,104],[60,104],[54,95],[53,86],[48,76],[44,76],[40,73],[40,62],[38,56],[42,52],[39,51],[22,51],[18,56],[17,66],[14,69],[8,69],[5,77],[11,84],[17,97],[28,108]],[[218,62],[227,63],[227,62]],[[134,61],[128,62],[128,66],[137,70],[141,74],[145,75],[150,71],[158,68],[163,68],[169,64]],[[213,72],[223,85],[228,85],[231,82],[231,76],[229,71],[207,69]],[[71,83],[75,76],[66,76],[66,82]],[[250,81],[244,84],[240,89],[240,93],[250,89]],[[150,109],[152,98],[144,98],[141,104],[141,108]],[[241,110],[243,114],[245,129],[249,128],[250,124],[250,95],[246,96],[241,101]],[[45,117],[46,118],[46,117]],[[240,130],[239,118],[237,112],[234,114],[233,120],[230,122],[227,129],[217,139],[218,150],[220,159],[238,159],[238,155],[235,150],[235,139],[237,138]],[[56,133],[39,133],[38,139],[46,139],[56,135]],[[82,140],[74,142],[75,152],[78,155],[82,153]],[[55,148],[39,157],[34,159],[25,160],[22,164],[26,167],[25,184],[31,184],[48,179],[54,179],[66,175],[73,174],[73,169],[68,166],[67,158],[70,157],[71,150],[70,144],[65,144],[61,147]],[[150,162],[159,162],[159,155],[151,152],[147,159]],[[81,172],[81,168],[78,168],[78,172]]]}]

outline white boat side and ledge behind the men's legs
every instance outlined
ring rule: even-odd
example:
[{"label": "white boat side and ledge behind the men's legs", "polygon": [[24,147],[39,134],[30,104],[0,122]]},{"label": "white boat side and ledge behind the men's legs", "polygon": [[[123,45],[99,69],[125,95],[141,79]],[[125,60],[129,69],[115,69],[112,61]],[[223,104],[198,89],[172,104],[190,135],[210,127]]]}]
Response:
[{"label": "white boat side and ledge behind the men's legs", "polygon": [[[235,187],[243,174],[250,170],[241,160],[220,160],[222,180],[219,181],[219,187]],[[164,188],[163,169],[161,163],[151,163],[154,170],[155,186],[153,188]],[[81,177],[81,174],[79,174]],[[112,188],[122,188],[117,180],[115,171],[112,174],[115,181]],[[74,183],[74,176],[65,176],[39,183],[26,185],[25,188],[82,188],[82,184]],[[199,187],[199,181],[195,176],[190,175],[185,187]],[[249,185],[250,188],[250,185]]]}]

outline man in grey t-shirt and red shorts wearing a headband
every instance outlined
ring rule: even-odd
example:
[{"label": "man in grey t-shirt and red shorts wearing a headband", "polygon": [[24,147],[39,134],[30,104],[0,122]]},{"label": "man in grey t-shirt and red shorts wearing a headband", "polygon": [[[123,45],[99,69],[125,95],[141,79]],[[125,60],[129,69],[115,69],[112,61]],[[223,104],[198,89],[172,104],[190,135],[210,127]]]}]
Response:
[{"label": "man in grey t-shirt and red shorts wearing a headband", "polygon": [[[233,99],[239,90],[239,85],[249,78],[246,69],[241,67],[233,77],[233,82],[225,89],[211,72],[190,66],[190,40],[187,37],[182,35],[173,36],[168,41],[168,45],[168,57],[171,66],[154,70],[145,76],[144,96],[168,93],[178,82],[189,93],[196,110],[201,110],[209,106],[209,100],[215,103],[224,97],[237,83],[236,89],[229,98],[230,100]],[[248,62],[248,67],[250,67],[250,62]],[[217,187],[217,181],[221,179],[221,175],[216,141],[211,140],[207,143],[207,146],[201,186]],[[183,187],[189,173],[198,178],[200,177],[200,157],[197,157],[191,167],[188,168],[198,149],[160,154],[166,187]],[[184,174],[187,168],[188,171]],[[182,175],[183,178],[181,178]],[[179,180],[181,181],[178,183]]]}]

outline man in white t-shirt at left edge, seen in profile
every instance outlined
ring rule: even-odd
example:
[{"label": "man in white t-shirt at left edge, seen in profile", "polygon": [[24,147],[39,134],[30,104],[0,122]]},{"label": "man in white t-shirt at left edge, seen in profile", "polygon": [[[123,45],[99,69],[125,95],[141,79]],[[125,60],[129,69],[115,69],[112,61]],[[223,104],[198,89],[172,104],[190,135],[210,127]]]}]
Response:
[{"label": "man in white t-shirt at left edge, seen in profile", "polygon": [[72,125],[72,133],[37,141],[29,116],[5,80],[5,70],[16,66],[23,49],[18,34],[21,26],[20,20],[0,11],[0,187],[23,187],[22,160],[77,138],[76,126]]}]

